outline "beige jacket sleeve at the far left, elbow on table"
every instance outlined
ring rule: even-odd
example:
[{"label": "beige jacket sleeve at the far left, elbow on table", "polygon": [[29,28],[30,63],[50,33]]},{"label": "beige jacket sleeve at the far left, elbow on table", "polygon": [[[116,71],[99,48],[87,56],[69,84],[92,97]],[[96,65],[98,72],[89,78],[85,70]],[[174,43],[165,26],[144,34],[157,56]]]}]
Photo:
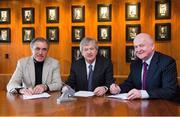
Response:
[{"label": "beige jacket sleeve at the far left, elbow on table", "polygon": [[23,77],[23,66],[20,61],[18,61],[16,70],[14,71],[9,83],[7,84],[7,91],[13,92],[16,88],[22,88],[22,77]]}]

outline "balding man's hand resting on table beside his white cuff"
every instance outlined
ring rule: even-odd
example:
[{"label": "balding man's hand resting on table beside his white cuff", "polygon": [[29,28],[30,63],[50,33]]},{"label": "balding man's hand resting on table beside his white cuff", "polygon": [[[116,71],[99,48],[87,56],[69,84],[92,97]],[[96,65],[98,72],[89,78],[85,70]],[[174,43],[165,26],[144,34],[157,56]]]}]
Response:
[{"label": "balding man's hand resting on table beside his white cuff", "polygon": [[141,98],[141,91],[137,89],[132,89],[128,92],[128,100],[133,100],[133,99],[139,99]]}]

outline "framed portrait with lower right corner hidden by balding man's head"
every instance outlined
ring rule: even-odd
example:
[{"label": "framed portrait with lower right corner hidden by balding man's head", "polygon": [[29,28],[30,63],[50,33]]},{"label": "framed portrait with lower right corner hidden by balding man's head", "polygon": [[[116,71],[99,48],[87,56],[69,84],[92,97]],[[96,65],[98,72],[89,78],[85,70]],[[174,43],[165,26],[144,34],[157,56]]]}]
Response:
[{"label": "framed portrait with lower right corner hidden by balding man's head", "polygon": [[127,24],[126,25],[126,41],[133,42],[137,34],[141,32],[140,24]]}]

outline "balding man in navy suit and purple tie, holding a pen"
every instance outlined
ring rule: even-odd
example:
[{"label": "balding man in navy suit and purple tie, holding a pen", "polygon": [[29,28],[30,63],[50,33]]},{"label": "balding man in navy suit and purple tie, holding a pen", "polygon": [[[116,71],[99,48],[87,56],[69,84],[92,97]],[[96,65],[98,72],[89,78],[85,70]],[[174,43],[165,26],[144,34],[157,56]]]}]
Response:
[{"label": "balding man in navy suit and purple tie, holding a pen", "polygon": [[146,33],[134,39],[138,59],[130,66],[130,74],[120,86],[112,84],[112,94],[128,93],[129,100],[138,98],[172,99],[177,90],[177,69],[173,58],[156,52],[154,42]]}]

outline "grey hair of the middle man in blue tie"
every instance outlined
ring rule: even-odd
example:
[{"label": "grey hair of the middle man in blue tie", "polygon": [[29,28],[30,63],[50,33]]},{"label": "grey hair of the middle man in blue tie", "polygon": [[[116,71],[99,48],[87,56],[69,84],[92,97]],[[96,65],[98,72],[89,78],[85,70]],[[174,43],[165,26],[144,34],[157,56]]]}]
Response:
[{"label": "grey hair of the middle man in blue tie", "polygon": [[80,51],[82,53],[83,51],[83,46],[86,46],[86,45],[93,45],[96,50],[98,50],[98,45],[97,45],[97,41],[91,37],[84,37],[81,42],[80,42]]}]

